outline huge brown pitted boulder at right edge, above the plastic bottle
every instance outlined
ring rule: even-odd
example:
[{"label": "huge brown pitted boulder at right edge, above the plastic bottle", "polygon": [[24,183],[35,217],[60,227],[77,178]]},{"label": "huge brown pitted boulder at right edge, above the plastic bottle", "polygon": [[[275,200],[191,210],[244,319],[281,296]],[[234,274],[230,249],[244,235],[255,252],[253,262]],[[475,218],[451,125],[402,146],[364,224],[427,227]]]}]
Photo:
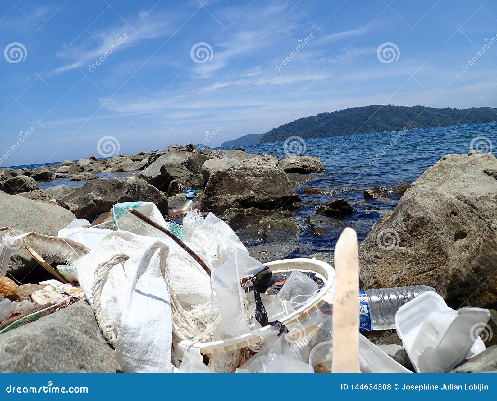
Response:
[{"label": "huge brown pitted boulder at right edge, above the plastic bottle", "polygon": [[492,154],[442,157],[361,243],[364,288],[428,285],[454,308],[496,306],[496,210]]}]

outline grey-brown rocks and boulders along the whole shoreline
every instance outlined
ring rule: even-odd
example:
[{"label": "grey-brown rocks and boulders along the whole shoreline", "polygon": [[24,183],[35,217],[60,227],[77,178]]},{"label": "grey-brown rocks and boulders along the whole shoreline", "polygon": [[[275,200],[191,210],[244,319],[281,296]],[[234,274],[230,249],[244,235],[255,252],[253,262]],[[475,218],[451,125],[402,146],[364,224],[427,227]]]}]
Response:
[{"label": "grey-brown rocks and boulders along the whole shoreline", "polygon": [[[136,173],[118,178],[98,177],[100,173],[109,172]],[[309,208],[301,202],[296,188],[321,173],[325,173],[325,167],[316,157],[291,156],[278,160],[275,156],[249,154],[243,150],[204,148],[199,152],[191,144],[111,159],[97,160],[89,156],[76,163],[65,161],[36,170],[0,169],[3,205],[0,226],[10,226],[19,232],[57,235],[59,229],[75,218],[93,221],[101,215],[95,222],[102,222],[116,202],[137,200],[154,202],[166,215],[168,210],[184,203],[184,190],[192,188],[197,190],[195,200],[202,211],[212,211],[224,219],[242,240],[247,235],[255,237],[258,245],[248,247],[250,255],[266,262],[287,257],[304,229],[310,230],[312,235],[326,237],[351,225],[344,217],[354,215],[357,210],[341,196],[331,196],[327,202],[313,207],[314,213],[305,219],[305,224],[292,219],[295,210]],[[77,187],[57,185],[39,189],[39,182],[57,178],[85,183]],[[449,154],[412,186],[399,183],[395,191],[402,196],[398,205],[368,227],[369,234],[359,247],[362,287],[428,285],[451,307],[496,308],[496,158],[478,152]],[[324,193],[319,188],[305,190],[305,194],[317,197]],[[379,190],[364,191],[364,200],[382,199],[386,198]],[[360,217],[357,220],[355,224],[360,224]],[[112,226],[112,222],[109,224]],[[265,243],[267,236],[273,241],[269,247]],[[318,253],[317,249],[310,248],[305,256],[332,263],[332,249]],[[46,272],[35,268],[36,262],[26,251],[13,252],[9,264],[12,277],[23,282],[48,278]],[[88,320],[81,347],[96,342],[95,353],[101,352],[102,361],[108,362],[108,345],[100,347],[97,328],[93,327],[95,333],[90,328],[95,322],[94,319],[89,322],[88,316],[92,316],[91,310],[86,310],[89,306],[83,302],[78,304],[31,323],[33,330],[40,333],[40,339],[31,339],[34,347],[38,342],[41,347],[43,338],[51,332],[50,324],[62,326],[66,324],[64,319],[69,319],[70,331],[83,330],[82,323],[77,321],[81,317]],[[491,322],[495,324],[497,312],[491,310],[491,313]],[[73,334],[76,335],[70,333],[70,336]],[[31,341],[27,332],[21,337],[23,341]],[[391,342],[382,340],[383,344],[399,345],[394,337],[395,334]],[[482,371],[489,360],[497,359],[497,347],[490,347],[494,342],[491,336],[487,342],[489,348],[479,357],[483,362],[479,365],[477,360],[472,361],[472,371]],[[59,351],[63,348],[61,346]],[[20,355],[12,358],[12,364],[24,363]],[[79,370],[61,365],[53,371],[113,371],[114,367],[107,362],[95,365],[82,357]],[[9,361],[5,363],[6,369],[13,366]],[[37,369],[45,371],[46,367],[45,370],[32,367],[32,371]],[[459,367],[456,371],[467,371],[465,369]]]}]

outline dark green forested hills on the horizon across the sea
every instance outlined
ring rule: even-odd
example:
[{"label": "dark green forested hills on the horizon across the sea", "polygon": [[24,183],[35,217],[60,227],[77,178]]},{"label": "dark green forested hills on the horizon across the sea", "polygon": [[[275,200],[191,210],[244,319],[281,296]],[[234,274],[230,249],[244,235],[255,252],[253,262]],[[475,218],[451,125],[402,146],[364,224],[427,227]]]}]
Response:
[{"label": "dark green forested hills on the horizon across the sea", "polygon": [[[304,139],[323,138],[326,136],[398,131],[404,127],[407,129],[430,128],[495,120],[497,120],[497,108],[493,107],[458,109],[375,104],[299,118],[260,135],[259,142],[284,141],[293,135],[301,136]],[[243,143],[238,141],[249,136],[245,135],[230,142],[242,145]]]}]

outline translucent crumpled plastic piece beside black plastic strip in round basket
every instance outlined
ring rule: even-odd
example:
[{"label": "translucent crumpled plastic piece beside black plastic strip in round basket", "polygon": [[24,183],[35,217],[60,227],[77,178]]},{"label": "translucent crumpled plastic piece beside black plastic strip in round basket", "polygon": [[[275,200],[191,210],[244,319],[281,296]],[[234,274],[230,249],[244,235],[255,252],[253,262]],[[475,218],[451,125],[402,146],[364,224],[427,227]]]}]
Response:
[{"label": "translucent crumpled plastic piece beside black plastic strip in round basket", "polygon": [[246,296],[240,278],[255,275],[264,268],[262,263],[248,256],[247,253],[237,251],[226,263],[213,270],[212,286],[228,334],[239,335],[250,331],[245,313]]}]

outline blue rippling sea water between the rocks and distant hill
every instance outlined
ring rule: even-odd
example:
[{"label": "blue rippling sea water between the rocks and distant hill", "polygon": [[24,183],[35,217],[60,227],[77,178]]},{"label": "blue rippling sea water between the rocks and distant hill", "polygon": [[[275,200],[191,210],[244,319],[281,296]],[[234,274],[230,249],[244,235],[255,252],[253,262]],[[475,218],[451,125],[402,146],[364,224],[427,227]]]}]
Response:
[{"label": "blue rippling sea water between the rocks and distant hill", "polygon": [[[413,183],[428,167],[449,153],[466,154],[474,149],[492,152],[493,144],[497,146],[497,122],[306,140],[294,138],[287,142],[244,147],[248,153],[276,155],[278,158],[295,154],[321,158],[326,173],[314,174],[309,182],[297,187],[303,207],[289,212],[290,215],[286,214],[285,217],[299,226],[305,226],[305,219],[314,214],[320,204],[334,198],[344,198],[356,209],[352,215],[341,218],[336,229],[331,229],[326,235],[315,235],[307,228],[299,231],[297,245],[292,245],[291,254],[308,256],[332,250],[344,225],[352,226],[357,231],[359,240],[364,239],[374,222],[397,205],[400,195],[395,194],[392,189],[399,182]],[[236,146],[224,149],[236,149]],[[142,150],[144,149],[136,149],[137,152]],[[38,166],[40,165],[14,168]],[[133,174],[135,173],[106,173],[99,176],[106,178]],[[60,184],[77,186],[84,182],[59,179],[40,183],[40,188]],[[326,194],[306,195],[306,188],[318,188],[326,191]],[[380,189],[386,197],[365,200],[364,190],[374,188]],[[269,214],[268,218],[270,217]],[[253,227],[250,230],[245,228],[243,224],[237,227],[237,233],[247,246],[272,241],[281,243],[282,237],[290,242],[292,235],[296,235],[285,232],[286,228],[283,228],[280,233],[254,236]]]}]

